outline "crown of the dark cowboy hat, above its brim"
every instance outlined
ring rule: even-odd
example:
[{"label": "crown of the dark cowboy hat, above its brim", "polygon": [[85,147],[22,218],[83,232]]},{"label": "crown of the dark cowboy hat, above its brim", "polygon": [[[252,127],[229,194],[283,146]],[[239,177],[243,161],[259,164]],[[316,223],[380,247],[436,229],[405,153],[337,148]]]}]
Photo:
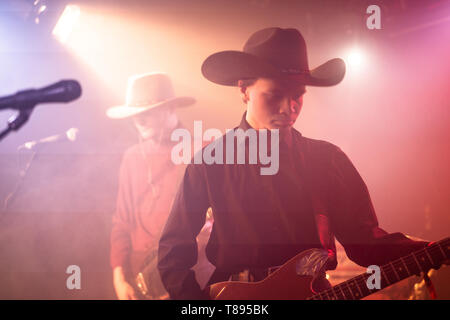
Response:
[{"label": "crown of the dark cowboy hat, above its brim", "polygon": [[297,29],[259,30],[250,36],[243,51],[269,62],[284,73],[309,73],[306,42]]}]

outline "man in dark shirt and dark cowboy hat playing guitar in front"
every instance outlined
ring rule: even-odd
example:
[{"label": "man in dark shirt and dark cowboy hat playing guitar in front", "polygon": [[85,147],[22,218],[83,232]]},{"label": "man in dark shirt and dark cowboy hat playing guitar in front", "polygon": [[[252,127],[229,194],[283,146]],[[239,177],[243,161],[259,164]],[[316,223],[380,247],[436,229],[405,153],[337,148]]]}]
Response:
[{"label": "man in dark shirt and dark cowboy hat playing guitar in front", "polygon": [[[249,280],[260,280],[269,268],[309,248],[327,250],[326,269],[334,269],[334,237],[362,266],[381,265],[426,245],[379,228],[367,187],[344,152],[293,128],[305,86],[338,84],[345,74],[341,59],[310,70],[300,32],[268,28],[254,33],[243,51],[211,55],[202,72],[210,81],[237,86],[247,110],[234,131],[212,142],[216,152],[223,148],[224,161],[190,164],[185,171],[159,246],[158,268],[171,298],[207,298],[191,268],[209,207],[214,225],[206,253],[216,266],[210,283],[244,270]],[[230,151],[228,160],[239,148],[249,156],[252,144],[261,148],[273,141],[261,144],[261,136],[252,141],[248,134],[248,143],[238,137],[227,149],[237,129],[275,134],[277,143],[268,149],[277,156],[276,172],[261,174],[261,162],[225,161]]]}]

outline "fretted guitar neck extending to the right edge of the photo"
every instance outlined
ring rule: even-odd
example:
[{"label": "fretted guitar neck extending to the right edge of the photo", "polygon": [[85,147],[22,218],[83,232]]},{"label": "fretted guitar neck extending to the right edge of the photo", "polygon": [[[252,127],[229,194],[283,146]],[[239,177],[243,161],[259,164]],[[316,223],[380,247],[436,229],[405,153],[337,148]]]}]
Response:
[{"label": "fretted guitar neck extending to the right edge of the photo", "polygon": [[431,246],[381,266],[379,288],[369,289],[367,280],[372,275],[363,273],[322,291],[310,297],[309,300],[359,300],[412,275],[438,268],[447,259],[450,259],[450,238],[435,242]]}]

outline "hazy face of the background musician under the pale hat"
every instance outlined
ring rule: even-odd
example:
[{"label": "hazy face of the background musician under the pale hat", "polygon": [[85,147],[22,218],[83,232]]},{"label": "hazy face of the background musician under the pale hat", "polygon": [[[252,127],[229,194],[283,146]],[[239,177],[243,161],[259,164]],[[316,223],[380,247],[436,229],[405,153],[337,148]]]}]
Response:
[{"label": "hazy face of the background musician under the pale hat", "polygon": [[169,107],[149,110],[135,116],[133,120],[139,135],[144,140],[156,137],[162,130],[174,128],[178,121],[175,112]]}]

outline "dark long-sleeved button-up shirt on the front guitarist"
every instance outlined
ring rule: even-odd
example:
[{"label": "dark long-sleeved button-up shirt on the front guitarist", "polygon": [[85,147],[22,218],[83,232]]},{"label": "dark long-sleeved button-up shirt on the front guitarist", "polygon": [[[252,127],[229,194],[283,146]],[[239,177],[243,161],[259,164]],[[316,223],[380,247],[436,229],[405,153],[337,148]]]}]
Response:
[{"label": "dark long-sleeved button-up shirt on the front guitarist", "polygon": [[[237,128],[251,128],[245,114]],[[381,265],[425,245],[378,227],[367,187],[341,149],[295,129],[292,136],[291,147],[280,142],[274,175],[261,175],[267,165],[248,164],[248,158],[246,164],[187,166],[159,246],[158,268],[171,298],[204,297],[191,268],[209,207],[214,225],[206,254],[224,274],[278,266],[321,247],[330,253],[328,268],[334,268],[334,235],[349,258],[363,266]],[[222,143],[224,159],[226,137],[212,142]],[[248,155],[248,144],[245,148]]]}]

